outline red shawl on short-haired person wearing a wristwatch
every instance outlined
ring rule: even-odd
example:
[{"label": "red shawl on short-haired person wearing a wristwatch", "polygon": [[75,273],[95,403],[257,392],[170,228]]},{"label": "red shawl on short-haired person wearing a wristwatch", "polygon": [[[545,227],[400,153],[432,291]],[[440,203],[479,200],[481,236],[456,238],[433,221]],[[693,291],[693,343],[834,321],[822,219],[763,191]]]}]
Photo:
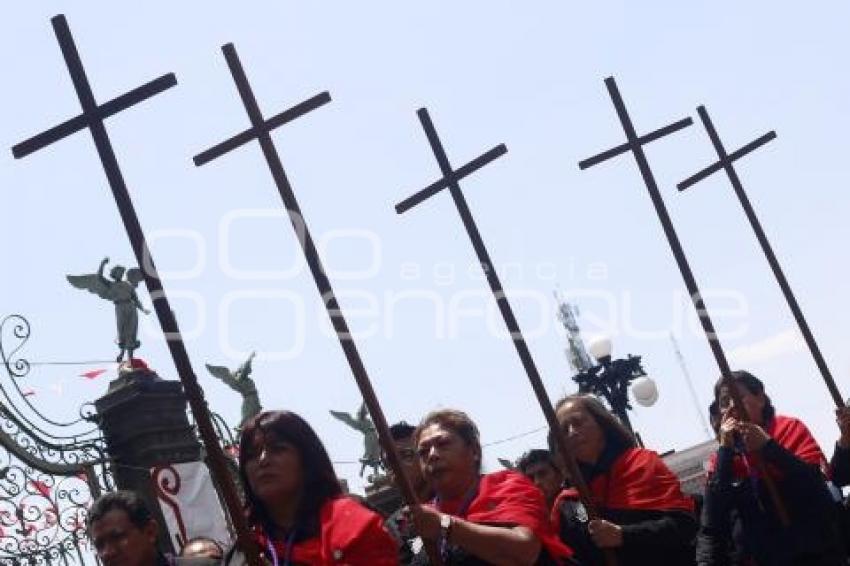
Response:
[{"label": "red shawl on short-haired person wearing a wristwatch", "polygon": [[546,502],[543,494],[524,475],[502,470],[481,476],[478,493],[466,509],[460,508],[463,498],[440,501],[437,510],[449,515],[458,515],[472,523],[526,527],[555,560],[573,555],[572,549],[558,538],[557,531],[546,517]]}]

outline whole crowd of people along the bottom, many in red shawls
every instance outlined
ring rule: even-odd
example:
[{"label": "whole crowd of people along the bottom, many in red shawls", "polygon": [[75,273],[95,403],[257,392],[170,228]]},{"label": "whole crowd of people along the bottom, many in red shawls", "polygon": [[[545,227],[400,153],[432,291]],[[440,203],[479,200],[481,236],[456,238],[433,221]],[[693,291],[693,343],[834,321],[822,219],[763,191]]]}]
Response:
[{"label": "whole crowd of people along the bottom, many in red shawls", "polygon": [[[421,505],[389,516],[343,494],[321,440],[289,411],[263,412],[241,431],[239,478],[251,536],[274,566],[443,564],[572,566],[847,566],[850,409],[836,412],[830,461],[799,420],[778,414],[764,384],[733,372],[710,407],[718,449],[702,496],[596,398],[555,407],[560,434],[589,491],[580,497],[557,444],[516,470],[483,473],[475,423],[442,409],[390,432]],[[737,393],[737,395],[735,395]],[[738,403],[733,402],[737,397]],[[238,545],[187,542],[157,550],[158,526],[133,493],[91,507],[88,533],[104,566],[247,563]]]}]

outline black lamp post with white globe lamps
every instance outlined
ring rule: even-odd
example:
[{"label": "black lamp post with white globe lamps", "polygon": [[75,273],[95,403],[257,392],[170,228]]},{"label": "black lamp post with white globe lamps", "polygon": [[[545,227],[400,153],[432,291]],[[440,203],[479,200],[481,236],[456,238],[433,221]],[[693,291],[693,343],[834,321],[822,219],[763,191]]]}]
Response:
[{"label": "black lamp post with white globe lamps", "polygon": [[628,410],[632,408],[629,402],[629,386],[632,386],[635,401],[649,407],[658,400],[655,382],[646,375],[640,363],[640,356],[629,354],[625,359],[612,359],[609,338],[593,342],[590,345],[590,355],[597,364],[573,376],[579,392],[604,398],[611,407],[611,412],[634,434],[628,415]]}]

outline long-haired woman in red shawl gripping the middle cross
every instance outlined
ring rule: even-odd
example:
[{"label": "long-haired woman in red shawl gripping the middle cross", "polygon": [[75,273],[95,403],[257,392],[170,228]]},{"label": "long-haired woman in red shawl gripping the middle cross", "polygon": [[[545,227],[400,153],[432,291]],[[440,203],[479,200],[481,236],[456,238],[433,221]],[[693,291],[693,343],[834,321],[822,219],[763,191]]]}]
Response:
[{"label": "long-haired woman in red shawl gripping the middle cross", "polygon": [[[575,489],[555,500],[552,520],[578,562],[604,565],[603,550],[609,550],[620,566],[692,566],[694,502],[661,458],[638,448],[595,397],[567,396],[555,415],[600,515],[588,517]],[[556,448],[552,438],[550,445]]]}]

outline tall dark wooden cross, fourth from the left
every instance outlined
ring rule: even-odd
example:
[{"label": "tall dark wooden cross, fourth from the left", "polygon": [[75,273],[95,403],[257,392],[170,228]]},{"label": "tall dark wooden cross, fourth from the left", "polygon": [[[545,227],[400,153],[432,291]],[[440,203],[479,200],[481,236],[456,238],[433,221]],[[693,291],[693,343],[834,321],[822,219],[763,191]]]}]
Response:
[{"label": "tall dark wooden cross, fourth from the left", "polygon": [[[620,95],[620,90],[617,88],[617,83],[614,81],[614,77],[608,77],[605,79],[605,86],[608,88],[608,94],[611,96],[611,101],[614,103],[617,116],[620,118],[620,124],[623,126],[623,130],[626,133],[627,141],[613,149],[580,161],[578,164],[579,168],[587,169],[588,167],[592,167],[626,152],[631,152],[632,155],[634,155],[638,169],[640,169],[643,181],[649,191],[649,196],[652,199],[652,204],[655,206],[658,219],[661,221],[664,234],[667,236],[667,242],[670,244],[670,249],[673,252],[673,256],[676,258],[676,264],[679,266],[679,271],[682,274],[682,278],[685,280],[685,286],[691,296],[691,301],[694,304],[694,308],[696,308],[697,316],[699,317],[700,324],[702,325],[708,344],[711,347],[711,352],[714,354],[714,360],[717,362],[717,366],[720,369],[720,375],[727,384],[729,395],[732,398],[735,407],[738,409],[740,416],[744,420],[752,420],[749,418],[746,408],[741,402],[738,388],[732,383],[732,372],[729,368],[729,362],[726,360],[726,354],[723,352],[723,347],[720,345],[720,340],[717,337],[717,332],[714,330],[714,324],[711,322],[711,317],[709,316],[708,309],[702,299],[702,294],[700,293],[696,278],[691,271],[691,266],[688,263],[688,258],[685,256],[685,251],[682,248],[682,243],[679,241],[679,236],[676,234],[676,229],[673,227],[673,221],[670,219],[670,215],[667,212],[667,206],[664,204],[664,199],[661,198],[661,191],[658,190],[658,183],[655,182],[655,176],[649,168],[649,161],[646,159],[646,153],[643,151],[643,146],[647,143],[686,128],[694,122],[691,118],[684,118],[678,122],[670,124],[669,126],[656,130],[651,134],[638,136],[635,131],[634,124],[632,124],[632,119],[629,117],[629,113],[626,110],[623,97]],[[764,472],[764,463],[761,460],[758,460],[756,465],[762,472]],[[779,497],[775,483],[766,473],[762,473],[761,475],[764,478],[765,485],[770,491],[777,515],[783,524],[789,524],[788,513],[782,499]]]}]

